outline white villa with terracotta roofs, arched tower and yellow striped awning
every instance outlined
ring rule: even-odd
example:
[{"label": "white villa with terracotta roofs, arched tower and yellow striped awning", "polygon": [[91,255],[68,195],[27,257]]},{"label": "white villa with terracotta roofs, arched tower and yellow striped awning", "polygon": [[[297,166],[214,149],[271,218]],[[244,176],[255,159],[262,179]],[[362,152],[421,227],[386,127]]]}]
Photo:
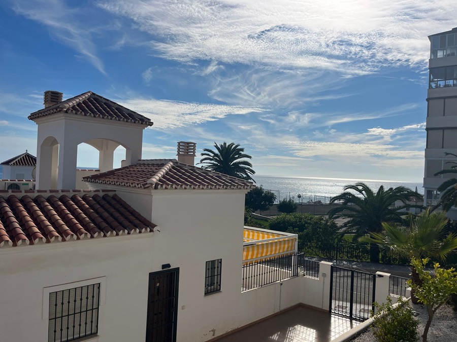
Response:
[{"label": "white villa with terracotta roofs, arched tower and yellow striped awning", "polygon": [[[194,143],[143,160],[152,122],[92,92],[48,91],[28,118],[36,189],[0,190],[2,341],[209,341],[295,306],[329,311],[331,263],[308,276],[296,235],[244,227],[253,184],[195,167]],[[77,171],[83,142],[99,170]],[[256,263],[286,255],[286,268]]]}]

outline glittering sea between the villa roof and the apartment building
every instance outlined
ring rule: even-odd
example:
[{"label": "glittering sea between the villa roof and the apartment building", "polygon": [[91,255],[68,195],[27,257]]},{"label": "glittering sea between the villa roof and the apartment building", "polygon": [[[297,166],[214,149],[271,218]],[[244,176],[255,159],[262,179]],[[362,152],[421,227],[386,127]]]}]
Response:
[{"label": "glittering sea between the villa roof and the apartment building", "polygon": [[406,186],[412,190],[417,188],[417,192],[423,195],[422,182],[407,182],[394,180],[373,180],[373,179],[346,179],[346,178],[311,178],[311,177],[277,177],[255,175],[255,183],[264,189],[271,190],[276,194],[277,200],[292,198],[301,200],[297,202],[321,201],[329,202],[331,197],[335,197],[343,192],[348,184],[364,182],[372,189],[377,190],[379,186],[384,188]]}]

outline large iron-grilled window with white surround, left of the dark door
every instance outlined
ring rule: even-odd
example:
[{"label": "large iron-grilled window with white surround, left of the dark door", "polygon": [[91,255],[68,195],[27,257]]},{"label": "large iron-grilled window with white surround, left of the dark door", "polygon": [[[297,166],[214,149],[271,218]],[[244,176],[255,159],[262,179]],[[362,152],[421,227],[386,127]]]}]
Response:
[{"label": "large iron-grilled window with white surround, left of the dark door", "polygon": [[100,283],[49,293],[48,342],[66,342],[99,330]]}]

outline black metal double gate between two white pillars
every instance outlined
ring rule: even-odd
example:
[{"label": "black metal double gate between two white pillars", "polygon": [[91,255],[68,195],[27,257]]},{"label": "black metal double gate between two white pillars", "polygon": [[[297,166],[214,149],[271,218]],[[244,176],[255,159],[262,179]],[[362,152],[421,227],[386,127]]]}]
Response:
[{"label": "black metal double gate between two white pillars", "polygon": [[357,321],[370,318],[374,310],[376,275],[332,266],[330,312]]}]

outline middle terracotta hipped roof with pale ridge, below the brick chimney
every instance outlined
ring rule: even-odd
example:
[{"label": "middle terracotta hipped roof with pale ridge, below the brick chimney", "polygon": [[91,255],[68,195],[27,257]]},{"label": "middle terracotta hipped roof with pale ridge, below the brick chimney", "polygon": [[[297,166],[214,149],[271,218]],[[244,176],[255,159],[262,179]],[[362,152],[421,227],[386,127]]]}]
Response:
[{"label": "middle terracotta hipped roof with pale ridge, below the brick chimney", "polygon": [[154,189],[251,189],[244,179],[179,163],[140,160],[138,164],[83,177],[86,182]]}]

